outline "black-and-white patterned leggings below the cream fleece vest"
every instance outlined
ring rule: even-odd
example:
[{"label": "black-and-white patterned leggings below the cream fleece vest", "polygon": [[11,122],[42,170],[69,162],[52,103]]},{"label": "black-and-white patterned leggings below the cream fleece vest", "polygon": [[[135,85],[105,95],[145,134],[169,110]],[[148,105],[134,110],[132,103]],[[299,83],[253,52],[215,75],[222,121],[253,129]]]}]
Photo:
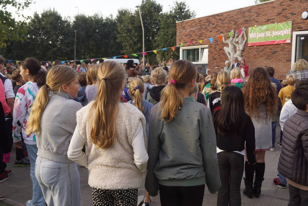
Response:
[{"label": "black-and-white patterned leggings below the cream fleece vest", "polygon": [[102,190],[92,188],[94,206],[137,206],[138,189]]}]

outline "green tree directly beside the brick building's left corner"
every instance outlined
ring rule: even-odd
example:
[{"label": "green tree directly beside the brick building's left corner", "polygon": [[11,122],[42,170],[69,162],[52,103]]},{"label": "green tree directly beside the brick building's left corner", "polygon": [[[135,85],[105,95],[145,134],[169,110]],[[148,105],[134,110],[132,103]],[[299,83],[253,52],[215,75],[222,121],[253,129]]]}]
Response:
[{"label": "green tree directly beside the brick building's left corner", "polygon": [[[176,46],[176,22],[195,17],[194,11],[191,11],[185,2],[175,2],[171,11],[160,16],[159,31],[156,35],[156,47]],[[171,49],[170,49],[171,50]],[[175,51],[158,51],[158,57],[162,61],[180,58],[180,49],[175,47]]]}]

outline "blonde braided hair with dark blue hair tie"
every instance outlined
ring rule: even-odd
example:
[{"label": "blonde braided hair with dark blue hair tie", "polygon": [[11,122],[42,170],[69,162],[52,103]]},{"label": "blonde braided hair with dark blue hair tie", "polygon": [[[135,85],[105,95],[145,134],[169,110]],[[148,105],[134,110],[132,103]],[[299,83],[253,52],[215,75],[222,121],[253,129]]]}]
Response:
[{"label": "blonde braided hair with dark blue hair tie", "polygon": [[144,113],[142,91],[144,91],[143,82],[139,78],[132,79],[129,83],[129,93],[134,100],[134,106]]}]

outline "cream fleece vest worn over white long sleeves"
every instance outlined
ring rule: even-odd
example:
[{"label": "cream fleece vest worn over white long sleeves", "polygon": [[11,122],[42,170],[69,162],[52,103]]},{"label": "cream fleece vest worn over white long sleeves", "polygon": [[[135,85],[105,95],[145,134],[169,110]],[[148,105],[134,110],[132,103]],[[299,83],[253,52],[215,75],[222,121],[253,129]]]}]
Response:
[{"label": "cream fleece vest worn over white long sleeves", "polygon": [[138,108],[128,103],[119,103],[116,119],[118,141],[111,147],[99,149],[90,138],[91,123],[88,112],[91,103],[77,112],[79,133],[85,140],[89,185],[99,189],[132,189],[141,187],[146,172],[140,172],[134,163],[132,138],[137,122],[141,120],[146,144],[145,118]]}]

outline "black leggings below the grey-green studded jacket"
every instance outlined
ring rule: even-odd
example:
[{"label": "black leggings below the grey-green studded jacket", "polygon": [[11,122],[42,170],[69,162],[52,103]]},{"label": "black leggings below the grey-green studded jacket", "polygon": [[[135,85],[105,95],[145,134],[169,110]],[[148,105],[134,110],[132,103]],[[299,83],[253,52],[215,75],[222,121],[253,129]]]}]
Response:
[{"label": "black leggings below the grey-green studded jacket", "polygon": [[161,206],[202,206],[205,184],[197,186],[159,185]]}]

